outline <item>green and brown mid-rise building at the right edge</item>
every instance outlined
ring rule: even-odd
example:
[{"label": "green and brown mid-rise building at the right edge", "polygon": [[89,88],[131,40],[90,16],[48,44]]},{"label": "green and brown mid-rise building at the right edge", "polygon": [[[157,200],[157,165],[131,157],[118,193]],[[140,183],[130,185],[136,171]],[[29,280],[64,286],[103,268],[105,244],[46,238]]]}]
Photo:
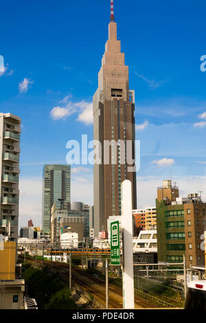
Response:
[{"label": "green and brown mid-rise building at the right edge", "polygon": [[185,254],[187,267],[204,266],[206,203],[198,193],[177,197],[176,201],[157,199],[156,208],[158,261],[181,263]]}]

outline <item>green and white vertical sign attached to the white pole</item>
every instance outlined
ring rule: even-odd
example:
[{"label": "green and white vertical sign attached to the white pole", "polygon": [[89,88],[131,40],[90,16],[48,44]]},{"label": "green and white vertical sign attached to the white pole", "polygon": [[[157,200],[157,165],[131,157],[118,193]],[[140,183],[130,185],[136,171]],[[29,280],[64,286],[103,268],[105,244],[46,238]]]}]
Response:
[{"label": "green and white vertical sign attached to the white pole", "polygon": [[111,265],[120,265],[119,221],[111,223]]}]

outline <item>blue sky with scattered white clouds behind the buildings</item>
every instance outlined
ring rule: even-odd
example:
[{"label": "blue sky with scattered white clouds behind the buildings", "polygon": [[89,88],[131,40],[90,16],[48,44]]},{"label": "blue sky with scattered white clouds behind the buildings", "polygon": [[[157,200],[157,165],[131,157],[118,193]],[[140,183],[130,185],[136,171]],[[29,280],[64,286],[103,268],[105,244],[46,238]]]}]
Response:
[{"label": "blue sky with scattered white clouds behind the buildings", "polygon": [[[114,9],[135,89],[138,207],[155,205],[171,174],[182,194],[206,198],[205,1],[115,0]],[[65,164],[68,140],[93,139],[110,1],[8,0],[1,12],[0,111],[22,120],[20,225],[29,217],[39,225],[43,164]],[[93,203],[91,166],[72,169],[71,199]]]}]

